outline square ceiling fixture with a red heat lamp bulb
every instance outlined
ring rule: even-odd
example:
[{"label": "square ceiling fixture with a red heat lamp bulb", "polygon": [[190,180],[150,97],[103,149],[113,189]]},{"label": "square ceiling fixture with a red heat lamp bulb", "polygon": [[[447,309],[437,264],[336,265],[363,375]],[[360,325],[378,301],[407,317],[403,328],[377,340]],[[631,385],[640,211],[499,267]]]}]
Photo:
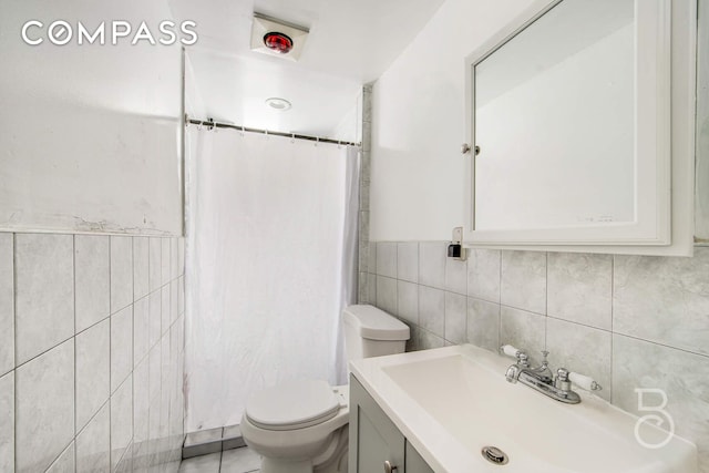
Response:
[{"label": "square ceiling fixture with a red heat lamp bulb", "polygon": [[307,28],[254,13],[251,51],[297,61],[308,33]]}]

